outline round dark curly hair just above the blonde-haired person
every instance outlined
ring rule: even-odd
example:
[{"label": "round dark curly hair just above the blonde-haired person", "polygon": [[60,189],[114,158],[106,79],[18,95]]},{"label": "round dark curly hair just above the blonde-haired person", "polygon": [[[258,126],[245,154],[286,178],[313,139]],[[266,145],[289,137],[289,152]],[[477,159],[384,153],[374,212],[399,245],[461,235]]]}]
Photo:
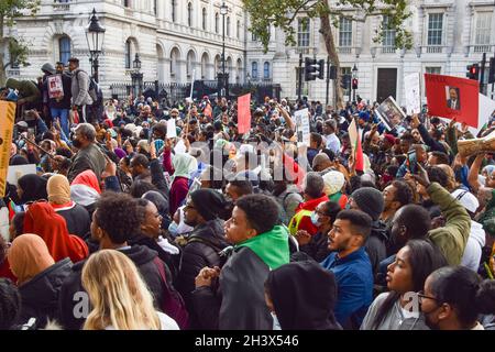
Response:
[{"label": "round dark curly hair just above the blonde-haired person", "polygon": [[131,196],[107,191],[97,202],[95,221],[113,243],[124,243],[140,231],[143,212]]}]

